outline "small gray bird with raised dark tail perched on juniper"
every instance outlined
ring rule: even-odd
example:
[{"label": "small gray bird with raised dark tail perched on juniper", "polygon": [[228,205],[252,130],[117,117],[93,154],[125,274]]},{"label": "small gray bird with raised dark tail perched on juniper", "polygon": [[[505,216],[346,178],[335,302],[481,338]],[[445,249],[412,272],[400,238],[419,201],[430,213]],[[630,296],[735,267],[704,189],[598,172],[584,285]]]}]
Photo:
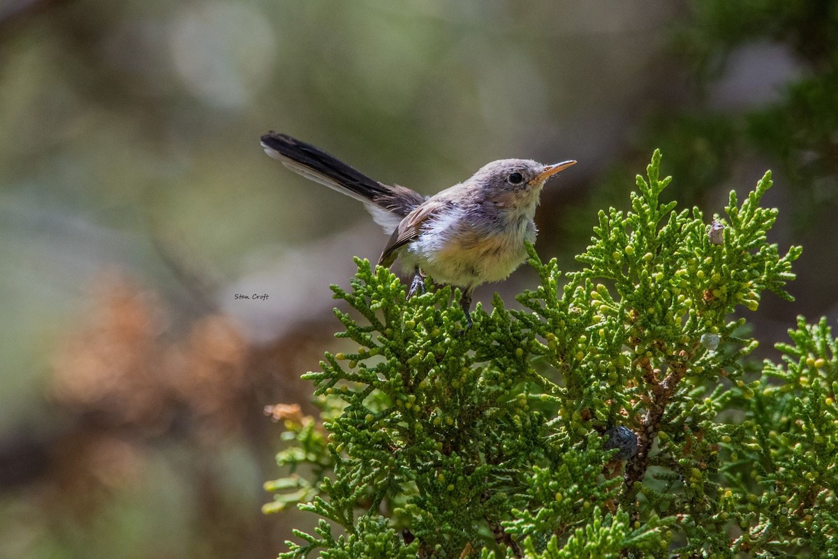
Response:
[{"label": "small gray bird with raised dark tail perched on juniper", "polygon": [[424,197],[410,188],[374,181],[285,134],[268,132],[261,145],[292,171],[363,202],[390,235],[378,263],[391,266],[401,257],[405,270],[414,274],[408,297],[423,289],[426,275],[438,284],[459,287],[468,326],[474,288],[505,280],[525,261],[525,241],[535,242],[533,216],[541,187],[576,163],[501,159],[464,182]]}]

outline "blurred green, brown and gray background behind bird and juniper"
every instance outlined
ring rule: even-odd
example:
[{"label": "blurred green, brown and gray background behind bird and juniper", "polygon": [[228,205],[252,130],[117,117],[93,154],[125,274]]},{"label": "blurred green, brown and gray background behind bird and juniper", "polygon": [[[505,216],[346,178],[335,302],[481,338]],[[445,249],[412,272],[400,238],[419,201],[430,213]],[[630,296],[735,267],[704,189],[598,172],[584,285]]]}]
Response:
[{"label": "blurred green, brown and gray background behind bird and juniper", "polygon": [[426,194],[577,159],[536,215],[566,270],[655,147],[708,222],[770,168],[804,245],[751,314],[770,356],[838,315],[836,67],[834,0],[0,0],[0,557],[272,557],[311,522],[261,514],[263,409],[311,409],[328,285],[386,237],[264,132]]}]

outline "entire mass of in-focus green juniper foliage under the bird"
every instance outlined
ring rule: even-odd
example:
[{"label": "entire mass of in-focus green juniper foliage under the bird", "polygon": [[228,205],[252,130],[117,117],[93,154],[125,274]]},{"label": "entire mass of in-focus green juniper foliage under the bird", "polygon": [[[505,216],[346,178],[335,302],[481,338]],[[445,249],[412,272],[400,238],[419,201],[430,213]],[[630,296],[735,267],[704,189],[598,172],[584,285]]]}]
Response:
[{"label": "entire mass of in-focus green juniper foliage under the bird", "polygon": [[[765,290],[791,299],[800,249],[766,242],[770,174],[731,192],[715,242],[699,209],[660,202],[659,152],[647,175],[629,212],[599,213],[582,269],[530,246],[525,310],[495,296],[466,331],[450,288],[405,300],[357,261],[333,289],[359,348],[304,376],[323,424],[287,422],[280,454],[311,474],[272,482],[323,520],[281,557],[835,556],[835,341],[801,319],[750,380],[758,343],[730,318]],[[603,449],[615,425],[638,438],[624,462]]]}]

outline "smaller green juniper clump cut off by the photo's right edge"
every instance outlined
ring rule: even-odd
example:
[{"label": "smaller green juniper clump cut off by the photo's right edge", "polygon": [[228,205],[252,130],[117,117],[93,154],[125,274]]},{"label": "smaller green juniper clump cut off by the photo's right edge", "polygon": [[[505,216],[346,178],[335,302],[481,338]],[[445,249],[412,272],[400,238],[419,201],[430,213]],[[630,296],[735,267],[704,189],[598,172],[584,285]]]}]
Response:
[{"label": "smaller green juniper clump cut off by the photo's right edge", "polygon": [[784,541],[793,555],[838,557],[838,346],[826,319],[807,325],[799,316],[789,336],[793,344],[777,346],[783,362],[765,362],[753,397],[742,402],[753,430],[734,461],[753,466],[762,491],[731,503],[746,526],[734,547]]}]

